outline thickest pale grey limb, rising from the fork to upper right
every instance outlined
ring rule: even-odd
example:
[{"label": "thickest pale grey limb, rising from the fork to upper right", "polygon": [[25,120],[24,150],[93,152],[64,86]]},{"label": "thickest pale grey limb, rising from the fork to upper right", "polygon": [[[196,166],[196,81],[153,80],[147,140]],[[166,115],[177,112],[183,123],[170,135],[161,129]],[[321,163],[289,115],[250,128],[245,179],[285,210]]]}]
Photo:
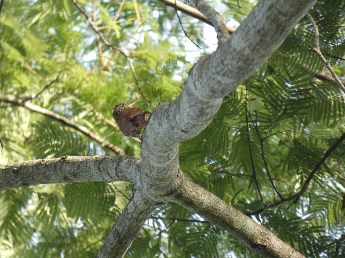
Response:
[{"label": "thickest pale grey limb, rising from the fork to upper right", "polygon": [[144,167],[158,172],[161,164],[175,160],[174,144],[195,137],[211,122],[223,97],[272,55],[314,2],[259,1],[230,39],[191,69],[181,95],[152,112],[142,143]]}]

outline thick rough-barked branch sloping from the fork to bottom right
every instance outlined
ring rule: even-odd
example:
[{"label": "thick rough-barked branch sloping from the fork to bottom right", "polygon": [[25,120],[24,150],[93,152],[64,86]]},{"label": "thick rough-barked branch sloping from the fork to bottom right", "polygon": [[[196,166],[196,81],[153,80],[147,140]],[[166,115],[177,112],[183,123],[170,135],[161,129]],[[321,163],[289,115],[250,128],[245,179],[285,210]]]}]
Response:
[{"label": "thick rough-barked branch sloping from the fork to bottom right", "polygon": [[179,185],[177,194],[169,200],[174,200],[173,202],[196,212],[241,239],[242,243],[265,258],[304,257],[268,229],[185,177]]}]

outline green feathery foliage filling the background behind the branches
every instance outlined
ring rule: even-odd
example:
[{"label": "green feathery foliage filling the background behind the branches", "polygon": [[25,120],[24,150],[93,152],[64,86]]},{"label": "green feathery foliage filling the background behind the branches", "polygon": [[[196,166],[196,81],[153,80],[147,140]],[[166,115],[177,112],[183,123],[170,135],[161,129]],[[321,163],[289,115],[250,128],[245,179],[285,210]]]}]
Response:
[{"label": "green feathery foliage filling the background behind the branches", "polygon": [[[5,57],[0,94],[53,111],[124,154],[140,156],[139,144],[110,122],[112,106],[141,97],[136,106],[151,111],[159,101],[175,99],[189,69],[209,53],[213,39],[204,24],[180,13],[183,28],[199,50],[185,37],[175,10],[158,1],[78,3],[109,44],[128,53],[129,59],[102,42],[72,1],[5,1],[0,16],[0,54]],[[209,3],[226,21],[239,23],[253,8],[252,1],[239,1],[239,6],[233,0]],[[318,1],[309,13],[318,25],[322,52],[344,79],[345,1]],[[279,193],[288,197],[345,132],[344,93],[318,76],[325,68],[311,51],[314,35],[303,18],[274,55],[224,98],[210,125],[180,143],[180,166],[188,178],[244,213],[263,207],[253,168],[265,203],[274,203],[280,198],[267,168]],[[0,102],[0,138],[1,164],[116,154],[68,125],[5,102]],[[344,153],[341,143],[295,203],[254,218],[308,257],[343,257]],[[86,182],[2,192],[0,256],[94,257],[128,203],[130,187],[124,182]],[[166,204],[152,214],[126,257],[257,254],[198,215]]]}]

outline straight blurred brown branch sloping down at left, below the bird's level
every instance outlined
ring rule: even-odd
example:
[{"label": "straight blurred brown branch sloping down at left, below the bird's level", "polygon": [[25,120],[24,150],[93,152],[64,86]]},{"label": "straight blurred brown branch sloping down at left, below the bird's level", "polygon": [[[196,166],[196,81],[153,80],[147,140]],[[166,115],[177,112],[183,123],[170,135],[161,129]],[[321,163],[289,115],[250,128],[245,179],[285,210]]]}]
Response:
[{"label": "straight blurred brown branch sloping down at left, below the bird's level", "polygon": [[93,132],[88,130],[86,127],[81,126],[76,122],[70,121],[66,117],[63,117],[59,114],[56,114],[56,113],[54,113],[48,109],[34,105],[30,102],[27,102],[25,99],[17,98],[14,95],[2,95],[2,94],[0,94],[0,101],[4,101],[7,103],[12,103],[14,105],[22,106],[22,107],[25,107],[31,111],[37,112],[39,114],[42,114],[42,115],[50,117],[54,120],[57,120],[57,121],[63,123],[64,125],[67,125],[69,127],[76,129],[77,131],[83,133],[83,135],[90,137],[92,140],[97,141],[98,143],[102,144],[102,146],[108,148],[111,151],[114,151],[117,155],[124,155],[124,151],[122,149],[111,144],[110,142],[106,141],[105,139],[100,138],[99,136],[95,135]]}]

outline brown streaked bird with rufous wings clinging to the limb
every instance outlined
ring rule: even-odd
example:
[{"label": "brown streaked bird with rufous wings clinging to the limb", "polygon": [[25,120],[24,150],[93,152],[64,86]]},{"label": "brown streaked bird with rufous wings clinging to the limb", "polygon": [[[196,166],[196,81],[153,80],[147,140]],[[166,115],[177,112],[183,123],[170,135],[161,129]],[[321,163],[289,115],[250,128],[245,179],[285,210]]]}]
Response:
[{"label": "brown streaked bird with rufous wings clinging to the limb", "polygon": [[149,120],[146,114],[151,114],[151,112],[132,107],[139,99],[137,98],[129,104],[119,102],[113,108],[112,118],[125,136],[136,137],[141,141],[140,132]]}]

